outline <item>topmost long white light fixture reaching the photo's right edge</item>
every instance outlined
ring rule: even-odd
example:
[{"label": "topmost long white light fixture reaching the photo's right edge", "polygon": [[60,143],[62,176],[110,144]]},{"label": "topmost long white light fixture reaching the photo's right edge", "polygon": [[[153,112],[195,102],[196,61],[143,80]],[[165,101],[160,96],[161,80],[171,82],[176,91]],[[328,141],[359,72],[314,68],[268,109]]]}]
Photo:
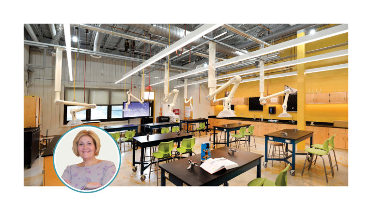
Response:
[{"label": "topmost long white light fixture reaching the photo's right edge", "polygon": [[[342,34],[342,33],[346,33],[346,32],[348,32],[348,30],[349,30],[349,28],[348,28],[347,24],[342,24],[342,25],[339,25],[339,26],[335,26],[335,27],[328,28],[328,29],[325,29],[325,30],[322,30],[322,31],[318,31],[315,34],[309,34],[309,35],[299,37],[299,38],[296,38],[296,39],[293,39],[293,40],[290,40],[290,41],[287,41],[287,42],[281,42],[279,44],[275,44],[275,45],[272,45],[272,46],[269,46],[269,47],[266,47],[266,48],[263,48],[263,49],[260,49],[260,50],[256,50],[256,51],[253,51],[253,52],[241,55],[241,56],[236,56],[236,57],[224,60],[224,61],[220,61],[220,62],[215,64],[215,68],[218,68],[218,67],[221,67],[221,66],[226,66],[226,65],[229,65],[229,64],[232,64],[232,63],[243,61],[243,60],[248,60],[248,59],[253,58],[253,57],[262,56],[262,55],[266,55],[266,54],[269,54],[269,53],[277,52],[277,51],[284,50],[284,49],[294,47],[294,46],[297,46],[297,45],[306,44],[306,43],[309,43],[309,42],[315,42],[315,41],[318,41],[318,40],[321,40],[321,39],[325,39],[325,38],[328,38],[328,37],[332,37],[332,36],[336,36],[336,35],[339,35],[339,34]],[[198,68],[198,69],[191,70],[191,71],[188,71],[188,72],[185,72],[185,73],[182,73],[182,74],[178,74],[176,76],[172,76],[172,77],[169,78],[169,80],[170,81],[175,80],[175,79],[178,79],[178,78],[181,78],[181,77],[186,77],[186,76],[196,74],[196,73],[200,73],[200,72],[206,71],[206,70],[208,70],[208,68],[205,68],[205,67],[204,68]]]}]

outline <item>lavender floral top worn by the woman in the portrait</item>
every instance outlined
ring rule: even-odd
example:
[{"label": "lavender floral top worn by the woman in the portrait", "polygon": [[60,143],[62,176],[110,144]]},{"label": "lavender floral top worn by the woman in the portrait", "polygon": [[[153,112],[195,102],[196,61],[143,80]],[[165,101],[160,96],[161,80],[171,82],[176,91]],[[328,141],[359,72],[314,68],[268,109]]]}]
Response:
[{"label": "lavender floral top worn by the woman in the portrait", "polygon": [[62,174],[62,179],[69,180],[73,188],[79,190],[85,189],[88,182],[99,182],[102,185],[107,184],[115,175],[116,168],[111,161],[104,160],[100,163],[87,167],[78,167],[78,165],[67,166]]}]

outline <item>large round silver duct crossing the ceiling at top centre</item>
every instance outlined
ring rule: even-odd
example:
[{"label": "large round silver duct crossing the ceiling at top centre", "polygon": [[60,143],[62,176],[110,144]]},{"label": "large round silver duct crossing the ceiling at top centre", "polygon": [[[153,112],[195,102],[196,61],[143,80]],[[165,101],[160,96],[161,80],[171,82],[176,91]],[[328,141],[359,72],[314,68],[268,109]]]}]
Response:
[{"label": "large round silver duct crossing the ceiling at top centre", "polygon": [[[171,33],[169,34],[169,25],[168,24],[125,24],[130,27],[134,28],[140,28],[142,30],[146,30],[151,34],[154,34],[156,36],[161,36],[164,38],[168,38],[170,35],[171,41],[178,41],[182,39],[185,36],[185,29],[184,28],[178,28],[175,26],[171,26]],[[190,31],[186,30],[186,35],[189,34]],[[194,42],[191,42],[190,44],[193,46],[197,46],[203,42],[207,42],[208,40],[204,38],[199,38],[195,40]],[[220,44],[216,45],[216,52],[228,55],[228,56],[239,56],[240,54],[236,52],[235,50],[222,46]]]}]

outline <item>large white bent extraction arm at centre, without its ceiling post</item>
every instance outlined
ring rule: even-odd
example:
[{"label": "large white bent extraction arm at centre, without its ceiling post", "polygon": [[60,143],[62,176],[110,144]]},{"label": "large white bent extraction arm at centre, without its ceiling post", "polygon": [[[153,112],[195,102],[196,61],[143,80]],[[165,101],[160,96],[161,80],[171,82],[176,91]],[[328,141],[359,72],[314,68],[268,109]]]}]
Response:
[{"label": "large white bent extraction arm at centre, without its ceiling post", "polygon": [[[236,89],[238,88],[241,81],[242,81],[242,78],[240,78],[240,76],[235,76],[231,80],[229,80],[229,82],[223,84],[217,90],[213,91],[207,97],[205,97],[205,99],[207,99],[209,101],[213,99],[213,102],[217,102],[217,101],[220,101],[220,100],[223,101],[223,111],[218,113],[218,115],[217,115],[218,118],[236,116],[235,111],[231,110],[231,100],[233,99],[234,93],[236,92]],[[234,86],[231,89],[229,96],[227,96],[225,98],[216,99],[217,93],[223,91],[230,84],[234,84]]]}]

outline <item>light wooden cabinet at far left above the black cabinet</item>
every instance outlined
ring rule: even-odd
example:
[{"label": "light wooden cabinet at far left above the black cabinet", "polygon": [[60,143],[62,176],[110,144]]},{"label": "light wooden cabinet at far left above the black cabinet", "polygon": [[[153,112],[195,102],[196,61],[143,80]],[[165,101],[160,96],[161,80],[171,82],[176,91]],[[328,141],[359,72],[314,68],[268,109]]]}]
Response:
[{"label": "light wooden cabinet at far left above the black cabinet", "polygon": [[25,96],[23,98],[23,127],[41,125],[41,98]]}]

